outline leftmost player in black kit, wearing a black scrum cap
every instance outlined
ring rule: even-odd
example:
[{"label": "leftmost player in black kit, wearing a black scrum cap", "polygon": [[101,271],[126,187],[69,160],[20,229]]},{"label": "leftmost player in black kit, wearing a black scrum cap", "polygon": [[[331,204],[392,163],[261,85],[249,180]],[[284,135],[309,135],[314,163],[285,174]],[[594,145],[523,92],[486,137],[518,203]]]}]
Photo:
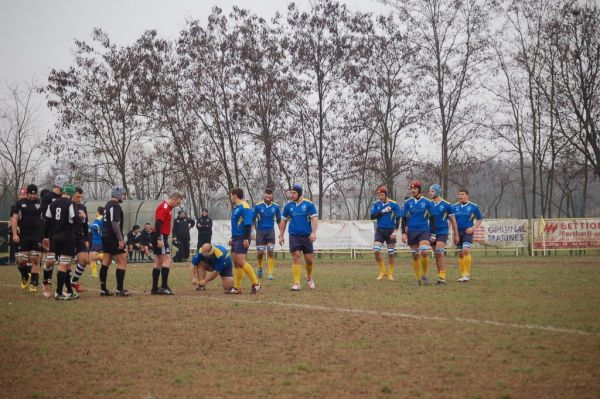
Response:
[{"label": "leftmost player in black kit, wearing a black scrum cap", "polygon": [[[35,184],[27,186],[25,198],[19,199],[11,212],[12,237],[13,242],[17,244],[17,267],[21,273],[21,288],[27,288],[31,273],[30,292],[37,292],[43,233],[42,211],[37,191]],[[28,269],[29,262],[31,269]]]}]

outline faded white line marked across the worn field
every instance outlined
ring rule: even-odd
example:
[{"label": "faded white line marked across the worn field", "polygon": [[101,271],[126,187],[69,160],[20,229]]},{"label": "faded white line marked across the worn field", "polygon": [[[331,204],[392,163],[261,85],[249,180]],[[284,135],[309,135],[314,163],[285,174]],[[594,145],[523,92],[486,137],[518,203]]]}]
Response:
[{"label": "faded white line marked across the worn field", "polygon": [[[10,287],[10,288],[19,288],[19,286],[15,284],[0,284],[2,287]],[[100,291],[99,289],[86,289],[86,291]],[[129,292],[136,295],[148,295],[149,293],[144,291],[137,290],[129,290]],[[519,323],[506,323],[502,321],[494,321],[494,320],[480,320],[480,319],[471,319],[465,317],[445,317],[445,316],[427,316],[427,315],[419,315],[413,313],[405,313],[405,312],[383,312],[379,310],[368,310],[368,309],[352,309],[352,308],[338,308],[338,307],[330,307],[323,305],[310,305],[307,303],[289,303],[289,302],[279,302],[279,301],[264,301],[261,299],[258,300],[246,300],[246,299],[232,299],[232,298],[216,298],[209,296],[196,296],[196,295],[175,295],[176,297],[187,297],[187,298],[198,298],[204,299],[213,302],[221,302],[221,303],[242,303],[247,305],[274,305],[288,308],[296,308],[296,309],[305,309],[305,310],[320,310],[325,312],[338,312],[338,313],[350,313],[350,314],[358,314],[358,315],[368,315],[368,316],[385,316],[385,317],[396,317],[403,319],[414,319],[414,320],[428,320],[428,321],[454,321],[459,323],[470,323],[470,324],[480,324],[480,325],[488,325],[495,327],[506,327],[506,328],[515,328],[521,330],[538,330],[538,331],[546,331],[553,333],[561,333],[561,334],[576,334],[576,335],[584,335],[597,337],[600,336],[600,333],[594,333],[589,331],[582,330],[574,330],[570,328],[562,328],[562,327],[553,327],[553,326],[540,326],[537,324],[519,324]]]}]

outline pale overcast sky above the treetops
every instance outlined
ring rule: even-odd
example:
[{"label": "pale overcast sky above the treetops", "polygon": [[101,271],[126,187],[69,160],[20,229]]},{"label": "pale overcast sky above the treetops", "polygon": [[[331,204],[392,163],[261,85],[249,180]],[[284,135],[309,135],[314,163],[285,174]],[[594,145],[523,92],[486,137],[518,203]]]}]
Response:
[{"label": "pale overcast sky above the treetops", "polygon": [[[375,0],[345,0],[350,9],[385,11]],[[129,44],[147,29],[173,39],[188,19],[206,21],[218,5],[232,5],[270,17],[284,12],[286,0],[0,0],[0,80],[45,82],[52,68],[72,62],[73,40],[90,41],[94,27],[117,44]],[[297,0],[305,8],[309,0]]]}]

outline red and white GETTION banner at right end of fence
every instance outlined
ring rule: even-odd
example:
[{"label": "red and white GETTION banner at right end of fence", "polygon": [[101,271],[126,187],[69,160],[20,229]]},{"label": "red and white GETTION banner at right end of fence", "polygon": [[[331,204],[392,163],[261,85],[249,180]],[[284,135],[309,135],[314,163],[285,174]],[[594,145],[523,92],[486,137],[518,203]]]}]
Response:
[{"label": "red and white GETTION banner at right end of fence", "polygon": [[533,220],[533,248],[600,248],[600,219]]}]

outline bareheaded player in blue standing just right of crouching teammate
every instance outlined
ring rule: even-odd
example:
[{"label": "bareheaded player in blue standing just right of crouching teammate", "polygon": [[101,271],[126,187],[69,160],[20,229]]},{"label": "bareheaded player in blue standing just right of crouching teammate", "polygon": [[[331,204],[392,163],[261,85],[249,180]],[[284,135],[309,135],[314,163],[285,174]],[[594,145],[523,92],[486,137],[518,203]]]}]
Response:
[{"label": "bareheaded player in blue standing just right of crouching teammate", "polygon": [[233,266],[235,267],[233,274],[233,287],[228,294],[242,293],[242,279],[244,273],[252,282],[251,294],[256,294],[260,290],[260,284],[254,273],[254,269],[250,266],[246,259],[248,247],[250,247],[250,236],[252,234],[252,208],[244,201],[244,191],[241,188],[231,190],[231,202],[233,209],[231,211],[231,253],[233,255]]}]

